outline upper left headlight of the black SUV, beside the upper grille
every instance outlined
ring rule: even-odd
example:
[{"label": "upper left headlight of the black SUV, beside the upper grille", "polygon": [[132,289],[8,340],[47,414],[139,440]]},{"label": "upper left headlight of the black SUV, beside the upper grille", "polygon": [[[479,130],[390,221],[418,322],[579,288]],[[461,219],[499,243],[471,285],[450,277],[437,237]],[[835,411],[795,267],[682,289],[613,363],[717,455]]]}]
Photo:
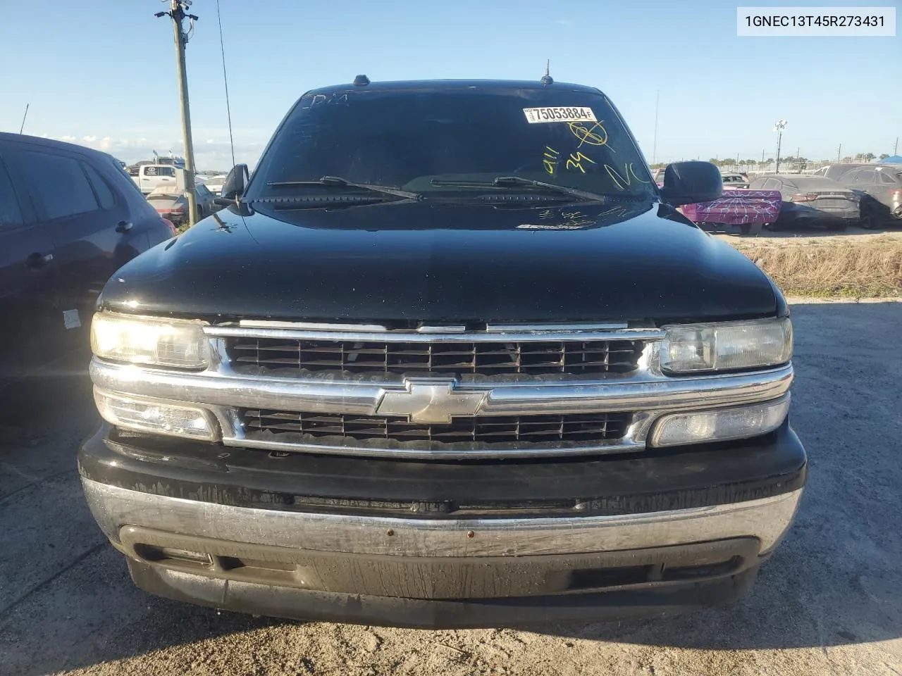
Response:
[{"label": "upper left headlight of the black SUV, beside the upper grille", "polygon": [[200,369],[208,345],[202,322],[100,312],[91,323],[91,349],[111,361]]}]

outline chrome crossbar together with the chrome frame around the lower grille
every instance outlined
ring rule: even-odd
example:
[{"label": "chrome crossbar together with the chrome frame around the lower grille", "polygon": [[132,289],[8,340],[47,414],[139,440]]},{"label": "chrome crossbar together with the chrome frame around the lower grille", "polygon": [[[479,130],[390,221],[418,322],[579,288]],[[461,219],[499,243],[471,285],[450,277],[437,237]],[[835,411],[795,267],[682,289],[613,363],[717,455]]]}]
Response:
[{"label": "chrome crossbar together with the chrome frame around the lower grille", "polygon": [[[741,407],[787,395],[792,364],[750,373],[669,378],[652,370],[607,380],[549,380],[529,383],[462,383],[457,393],[483,394],[475,416],[530,416],[591,413],[631,413],[632,422],[621,439],[584,444],[427,444],[383,440],[352,442],[332,439],[266,438],[245,433],[240,408],[306,411],[324,414],[379,416],[384,397],[405,392],[406,384],[364,380],[301,379],[239,375],[214,368],[188,372],[115,364],[95,358],[91,379],[96,388],[157,401],[193,406],[216,416],[215,440],[226,446],[284,452],[317,452],[397,458],[548,457],[592,453],[635,452],[659,416],[667,413]],[[115,424],[115,421],[110,421]],[[350,442],[350,443],[349,443]]]}]

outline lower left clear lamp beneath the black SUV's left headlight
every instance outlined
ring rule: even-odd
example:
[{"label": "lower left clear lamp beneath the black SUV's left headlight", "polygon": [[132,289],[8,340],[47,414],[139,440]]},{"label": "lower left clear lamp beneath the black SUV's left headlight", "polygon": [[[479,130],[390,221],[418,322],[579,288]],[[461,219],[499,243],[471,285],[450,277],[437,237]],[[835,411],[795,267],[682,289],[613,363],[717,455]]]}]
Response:
[{"label": "lower left clear lamp beneath the black SUV's left headlight", "polygon": [[212,414],[202,408],[152,401],[94,388],[100,416],[110,425],[138,432],[215,440],[218,428]]}]

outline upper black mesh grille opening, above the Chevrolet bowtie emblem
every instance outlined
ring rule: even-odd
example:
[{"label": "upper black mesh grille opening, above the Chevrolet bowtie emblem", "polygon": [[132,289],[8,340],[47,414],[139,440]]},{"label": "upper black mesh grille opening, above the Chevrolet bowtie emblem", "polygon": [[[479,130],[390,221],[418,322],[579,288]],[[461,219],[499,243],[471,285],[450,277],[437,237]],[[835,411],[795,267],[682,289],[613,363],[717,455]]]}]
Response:
[{"label": "upper black mesh grille opening, above the Chevrolet bowtie emblem", "polygon": [[641,341],[382,342],[229,337],[235,364],[315,374],[437,374],[484,376],[630,373]]}]

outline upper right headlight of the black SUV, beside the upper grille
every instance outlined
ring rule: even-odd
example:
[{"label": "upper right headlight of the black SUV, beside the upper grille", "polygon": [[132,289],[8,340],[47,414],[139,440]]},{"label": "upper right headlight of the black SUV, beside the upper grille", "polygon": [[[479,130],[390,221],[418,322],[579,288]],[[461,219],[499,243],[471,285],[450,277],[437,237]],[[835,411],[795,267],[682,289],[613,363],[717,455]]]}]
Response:
[{"label": "upper right headlight of the black SUV, beside the upper grille", "polygon": [[755,369],[792,357],[788,318],[722,324],[674,324],[660,346],[665,373]]}]

